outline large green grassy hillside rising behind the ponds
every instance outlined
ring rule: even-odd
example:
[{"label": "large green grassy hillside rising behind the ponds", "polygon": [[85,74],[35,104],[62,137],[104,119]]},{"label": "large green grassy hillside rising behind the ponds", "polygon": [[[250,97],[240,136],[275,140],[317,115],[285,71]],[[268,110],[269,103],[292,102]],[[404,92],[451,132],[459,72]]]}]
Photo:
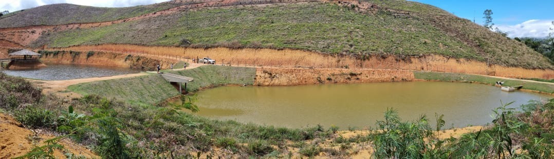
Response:
[{"label": "large green grassy hillside rising behind the ponds", "polygon": [[548,59],[518,41],[417,2],[259,0],[220,1],[214,6],[100,27],[48,31],[29,46],[249,47],[300,49],[362,59],[437,54],[509,67],[554,68]]}]

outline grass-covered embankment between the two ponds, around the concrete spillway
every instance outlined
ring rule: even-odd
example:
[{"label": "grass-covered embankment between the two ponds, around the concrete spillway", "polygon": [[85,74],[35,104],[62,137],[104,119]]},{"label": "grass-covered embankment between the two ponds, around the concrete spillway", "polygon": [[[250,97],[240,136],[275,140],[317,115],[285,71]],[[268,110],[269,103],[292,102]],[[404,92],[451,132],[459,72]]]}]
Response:
[{"label": "grass-covered embankment between the two ponds, around the concrete spillway", "polygon": [[[256,70],[250,67],[209,65],[167,72],[193,77],[194,81],[187,84],[187,91],[196,92],[201,88],[227,84],[252,85]],[[68,89],[83,95],[102,94],[103,97],[139,105],[156,105],[179,94],[176,88],[157,74],[80,83],[71,85]]]}]

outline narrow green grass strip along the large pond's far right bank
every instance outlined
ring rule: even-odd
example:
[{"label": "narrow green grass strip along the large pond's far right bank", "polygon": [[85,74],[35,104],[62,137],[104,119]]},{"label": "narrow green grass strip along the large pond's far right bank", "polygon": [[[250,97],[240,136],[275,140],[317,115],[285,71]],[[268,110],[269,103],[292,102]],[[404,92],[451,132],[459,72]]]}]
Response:
[{"label": "narrow green grass strip along the large pond's far right bank", "polygon": [[480,75],[467,75],[460,73],[446,72],[414,72],[416,79],[425,79],[431,81],[458,81],[458,82],[480,82],[494,85],[496,81],[503,81],[504,86],[524,86],[522,89],[539,91],[543,93],[554,93],[554,84],[525,82],[512,79],[494,78]]}]

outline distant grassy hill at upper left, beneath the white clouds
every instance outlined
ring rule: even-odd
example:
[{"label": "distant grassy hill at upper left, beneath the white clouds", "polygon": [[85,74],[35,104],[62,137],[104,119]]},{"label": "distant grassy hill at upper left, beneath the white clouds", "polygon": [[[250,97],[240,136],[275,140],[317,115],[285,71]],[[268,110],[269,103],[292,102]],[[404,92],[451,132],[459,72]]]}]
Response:
[{"label": "distant grassy hill at upper left, beneath the white clouds", "polygon": [[75,4],[50,4],[19,10],[0,17],[0,28],[29,25],[60,25],[70,23],[106,22],[136,17],[163,9],[181,6],[183,3],[164,2],[145,6],[106,8]]}]

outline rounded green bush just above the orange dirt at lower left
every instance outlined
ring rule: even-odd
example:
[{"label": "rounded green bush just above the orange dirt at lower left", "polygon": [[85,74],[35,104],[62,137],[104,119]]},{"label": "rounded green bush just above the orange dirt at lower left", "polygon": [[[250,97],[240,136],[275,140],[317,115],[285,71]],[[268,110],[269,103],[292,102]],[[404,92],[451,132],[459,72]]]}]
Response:
[{"label": "rounded green bush just above the orange dirt at lower left", "polygon": [[23,125],[30,128],[56,128],[57,115],[50,110],[28,106],[16,112],[16,119]]}]

